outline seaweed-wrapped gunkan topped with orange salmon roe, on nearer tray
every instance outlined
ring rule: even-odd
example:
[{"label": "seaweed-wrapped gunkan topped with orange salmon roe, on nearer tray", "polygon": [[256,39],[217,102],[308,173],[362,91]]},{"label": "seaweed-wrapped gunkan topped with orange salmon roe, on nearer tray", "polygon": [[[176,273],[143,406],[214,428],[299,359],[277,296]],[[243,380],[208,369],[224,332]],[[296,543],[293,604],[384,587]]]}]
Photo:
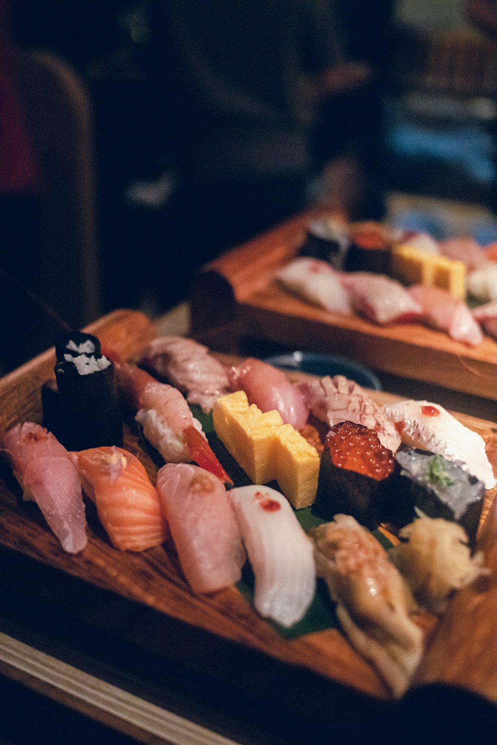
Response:
[{"label": "seaweed-wrapped gunkan topped with orange salmon roe, on nearer tray", "polygon": [[393,469],[393,454],[376,431],[352,422],[334,425],[324,443],[314,514],[332,520],[344,513],[377,527]]}]

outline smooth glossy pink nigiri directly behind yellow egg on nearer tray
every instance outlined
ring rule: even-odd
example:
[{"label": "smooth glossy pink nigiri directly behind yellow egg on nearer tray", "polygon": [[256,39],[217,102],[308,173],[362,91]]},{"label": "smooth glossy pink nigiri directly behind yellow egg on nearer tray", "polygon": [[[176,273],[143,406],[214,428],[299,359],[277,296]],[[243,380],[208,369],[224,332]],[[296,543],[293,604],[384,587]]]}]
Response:
[{"label": "smooth glossy pink nigiri directly behind yellow egg on nearer tray", "polygon": [[309,410],[303,394],[282,370],[250,357],[231,367],[228,375],[231,389],[244,390],[249,404],[255,404],[263,412],[278,411],[283,422],[297,430],[306,424]]}]

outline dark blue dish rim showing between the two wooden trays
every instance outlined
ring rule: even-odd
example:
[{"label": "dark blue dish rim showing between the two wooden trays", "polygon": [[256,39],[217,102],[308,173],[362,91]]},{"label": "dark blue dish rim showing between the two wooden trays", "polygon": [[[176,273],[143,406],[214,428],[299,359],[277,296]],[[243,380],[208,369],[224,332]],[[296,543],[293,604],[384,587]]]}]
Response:
[{"label": "dark blue dish rim showing between the two wooden trays", "polygon": [[282,370],[300,370],[301,373],[318,375],[320,378],[324,375],[345,375],[359,385],[382,390],[382,384],[372,370],[346,357],[324,355],[319,352],[289,352],[287,355],[267,357],[265,362]]}]

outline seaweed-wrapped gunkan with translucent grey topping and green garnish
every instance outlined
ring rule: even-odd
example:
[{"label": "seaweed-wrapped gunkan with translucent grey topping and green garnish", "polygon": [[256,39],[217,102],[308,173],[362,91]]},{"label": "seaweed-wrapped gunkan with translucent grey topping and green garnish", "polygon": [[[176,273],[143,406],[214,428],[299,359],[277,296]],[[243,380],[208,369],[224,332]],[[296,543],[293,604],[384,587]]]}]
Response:
[{"label": "seaweed-wrapped gunkan with translucent grey topping and green garnish", "polygon": [[473,544],[484,503],[485,486],[458,461],[414,448],[396,454],[396,473],[387,507],[396,527],[411,523],[420,510],[425,516],[458,522]]}]

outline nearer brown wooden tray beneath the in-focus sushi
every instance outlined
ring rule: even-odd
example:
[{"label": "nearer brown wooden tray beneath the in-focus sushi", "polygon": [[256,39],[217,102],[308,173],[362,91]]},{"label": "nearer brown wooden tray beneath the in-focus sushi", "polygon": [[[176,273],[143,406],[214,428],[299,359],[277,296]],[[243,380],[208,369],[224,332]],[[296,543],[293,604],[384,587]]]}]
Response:
[{"label": "nearer brown wooden tray beneath the in-focus sushi", "polygon": [[[135,311],[115,311],[88,330],[100,337],[103,347],[112,347],[123,358],[136,354],[153,333],[148,320]],[[54,350],[49,350],[0,381],[0,435],[15,422],[41,419],[39,389],[53,375],[53,366]],[[381,403],[396,398],[373,395]],[[469,416],[458,418],[484,437],[497,468],[496,425]],[[125,446],[139,454],[153,478],[156,467],[129,431]],[[382,711],[374,702],[379,707],[387,700],[387,691],[338,630],[285,639],[259,618],[235,588],[194,595],[183,580],[171,544],[143,554],[119,552],[98,524],[92,524],[84,551],[76,557],[66,554],[36,508],[19,501],[8,469],[0,475],[4,478],[0,480],[4,586],[125,639],[144,655],[159,656],[161,664],[166,660],[169,665],[186,666],[190,673],[206,676],[206,685],[227,687],[231,694],[258,702],[257,706],[284,711],[287,717],[317,717],[323,726],[332,719],[344,732],[374,726],[372,712],[380,716]],[[487,509],[493,496],[488,492]],[[443,680],[444,666],[430,665],[429,674]],[[493,698],[488,675],[485,682],[476,678],[469,688]],[[497,662],[493,682],[496,679]],[[274,690],[279,691],[276,702],[268,699]],[[334,701],[332,710],[318,706],[315,697],[320,700],[323,695]]]}]

